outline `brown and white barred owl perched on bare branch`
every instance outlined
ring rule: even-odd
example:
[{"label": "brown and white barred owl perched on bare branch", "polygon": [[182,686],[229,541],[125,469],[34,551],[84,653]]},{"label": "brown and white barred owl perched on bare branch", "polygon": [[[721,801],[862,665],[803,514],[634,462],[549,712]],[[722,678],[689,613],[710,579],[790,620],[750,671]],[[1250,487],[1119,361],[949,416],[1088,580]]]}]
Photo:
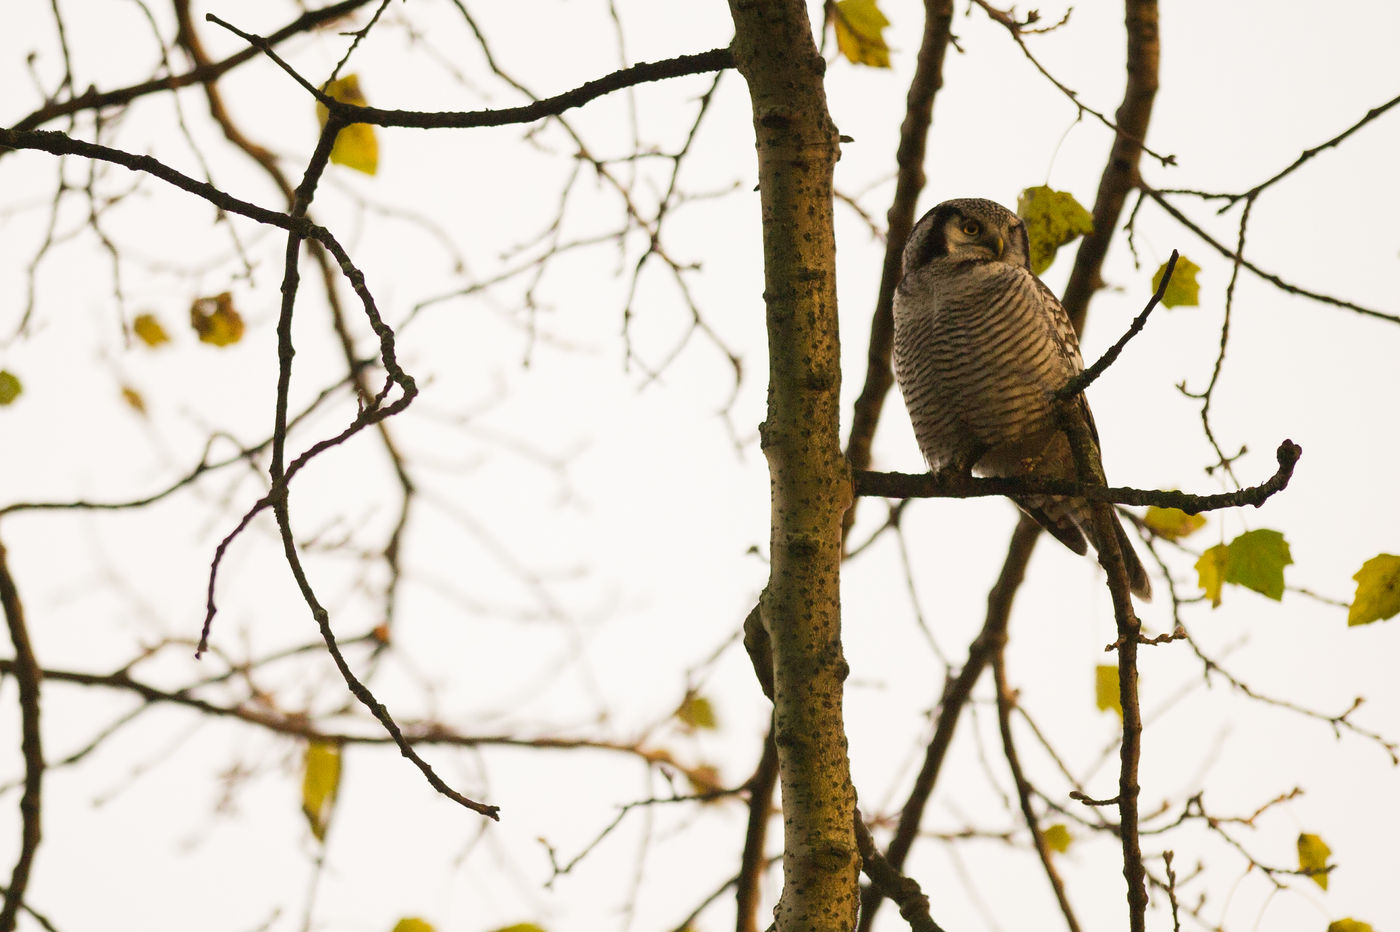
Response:
[{"label": "brown and white barred owl perched on bare branch", "polygon": [[[1056,390],[1084,369],[1070,316],[1030,271],[1026,227],[990,200],[948,200],[920,220],[895,291],[895,376],[935,472],[1075,479]],[[1099,434],[1081,395],[1098,456]],[[1021,495],[1021,508],[1075,553],[1099,549],[1082,498]],[[1133,592],[1142,561],[1114,515]]]}]

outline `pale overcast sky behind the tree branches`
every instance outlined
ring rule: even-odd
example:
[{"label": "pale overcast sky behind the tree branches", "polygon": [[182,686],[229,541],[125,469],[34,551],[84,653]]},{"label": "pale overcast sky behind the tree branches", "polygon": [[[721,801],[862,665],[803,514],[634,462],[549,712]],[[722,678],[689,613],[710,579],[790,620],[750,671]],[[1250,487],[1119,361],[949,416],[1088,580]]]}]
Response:
[{"label": "pale overcast sky behind the tree branches", "polygon": [[[619,64],[606,4],[476,6],[472,13],[498,63],[539,95]],[[882,223],[921,4],[881,6],[893,21],[886,36],[895,70],[836,62],[829,94],[839,129],[854,139],[837,164],[837,186]],[[1324,14],[1260,1],[1163,6],[1162,90],[1148,141],[1175,154],[1179,167],[1144,160],[1152,185],[1247,189],[1397,94],[1400,7],[1393,3],[1343,3]],[[70,0],[60,7],[78,88],[129,84],[157,67],[158,50],[137,4]],[[200,15],[206,10],[258,32],[295,15],[290,4],[263,0],[199,4]],[[619,10],[631,62],[722,46],[732,34],[722,3],[619,3]],[[169,36],[165,11],[153,13]],[[1075,122],[1075,108],[1035,73],[1001,27],[980,11],[963,13],[959,4],[962,53],[949,53],[935,104],[921,210],[955,196],[1014,206],[1021,189],[1039,183],[1092,204],[1109,132],[1092,119]],[[1061,13],[1043,8],[1047,21]],[[25,56],[35,53],[32,67],[46,88],[56,84],[60,59],[49,4],[25,0],[7,20],[0,87],[10,90],[0,98],[0,120],[8,125],[41,102]],[[417,39],[402,28],[405,21]],[[241,48],[209,24],[202,36],[214,57]],[[319,35],[288,43],[284,53],[319,81],[343,48],[343,41]],[[1121,4],[1079,4],[1067,27],[1033,39],[1032,48],[1085,104],[1109,113],[1117,106]],[[377,106],[521,102],[486,71],[448,3],[395,4],[350,70]],[[692,77],[638,88],[633,99],[644,146],[673,150],[708,84],[708,77]],[[221,88],[235,119],[298,178],[316,136],[305,95],[265,62],[238,69]],[[214,181],[277,207],[272,186],[209,123],[202,95],[190,90],[179,101]],[[570,116],[595,155],[629,151],[627,101],[616,95]],[[731,785],[750,772],[767,704],[732,642],[767,575],[767,473],[756,437],[766,392],[762,250],[749,120],[742,80],[728,74],[680,181],[693,195],[717,196],[687,202],[664,232],[669,255],[700,263],[687,284],[724,348],[694,333],[657,378],[627,364],[622,309],[627,276],[645,245],[636,232],[624,256],[605,243],[552,260],[533,313],[522,309],[526,280],[518,280],[427,305],[400,327],[399,358],[423,396],[391,427],[424,501],[406,543],[396,651],[374,682],[400,718],[438,718],[483,733],[631,740],[664,721],[689,684],[714,701],[720,730],[683,736],[662,726],[651,742],[717,764]],[[533,146],[522,141],[524,132],[381,130],[377,176],[330,169],[314,213],[350,249],[391,323],[430,298],[519,263],[519,255],[503,253],[531,243],[553,221],[575,167],[574,146],[557,126],[540,132]],[[132,106],[105,141],[200,174],[168,98]],[[1400,313],[1397,151],[1400,115],[1389,113],[1271,189],[1253,210],[1250,256],[1288,281]],[[255,274],[235,278],[239,263],[231,259],[227,230],[213,223],[207,204],[151,179],[137,183],[123,169],[105,172],[101,183],[106,192],[126,192],[105,220],[129,257],[120,278],[125,306],[113,298],[112,263],[101,243],[90,232],[66,235],[38,269],[29,333],[13,337],[28,290],[25,270],[49,218],[55,165],[35,153],[0,160],[0,294],[7,295],[0,304],[0,368],[25,386],[15,404],[0,410],[0,505],[139,497],[197,462],[211,431],[256,442],[272,425],[281,236],[239,223]],[[638,164],[645,179],[638,197],[655,196],[668,165]],[[617,171],[627,178],[631,169]],[[66,174],[80,183],[87,167],[71,161]],[[389,210],[365,210],[365,202]],[[1222,241],[1235,241],[1238,211],[1215,217],[1212,207],[1177,203]],[[449,248],[392,211],[430,218]],[[84,213],[81,199],[67,199],[59,230],[80,228]],[[882,245],[855,211],[839,204],[836,216],[848,416],[864,378]],[[561,235],[595,235],[616,228],[619,218],[616,197],[588,181],[571,189]],[[1152,273],[1173,248],[1203,267],[1201,306],[1156,312],[1091,390],[1107,474],[1114,484],[1215,491],[1219,479],[1203,472],[1214,458],[1200,431],[1198,403],[1176,386],[1198,390],[1210,378],[1229,267],[1151,204],[1141,210],[1135,241],[1137,266],[1124,239],[1114,241],[1105,269],[1110,287],[1091,308],[1085,358],[1096,358],[1141,309]],[[456,267],[458,257],[465,269]],[[1044,276],[1057,292],[1070,259],[1061,253]],[[216,350],[196,343],[183,322],[192,297],[224,290],[232,290],[248,334]],[[293,393],[305,403],[337,376],[340,353],[309,277],[302,297]],[[174,346],[153,353],[125,343],[123,315],[129,320],[147,311],[162,318]],[[690,312],[672,281],[651,267],[634,301],[633,351],[658,365],[689,326]],[[742,360],[738,385],[725,350]],[[1303,446],[1303,459],[1294,484],[1264,509],[1217,512],[1189,543],[1200,550],[1242,530],[1278,529],[1295,560],[1288,582],[1350,600],[1351,575],[1366,558],[1400,551],[1397,357],[1396,325],[1287,295],[1245,274],[1212,424],[1228,452],[1249,448],[1238,463],[1245,483],[1274,472],[1274,448],[1284,438]],[[123,383],[141,392],[148,417],[122,402]],[[295,448],[333,434],[353,410],[340,396],[295,435]],[[847,430],[843,423],[843,438]],[[921,467],[897,395],[875,438],[875,466]],[[213,546],[260,488],[246,469],[235,469],[137,512],[7,518],[0,532],[41,662],[108,672],[141,645],[197,637]],[[395,494],[381,449],[361,435],[308,467],[294,486],[298,532],[382,547]],[[855,539],[864,540],[885,514],[882,502],[862,502]],[[914,592],[937,648],[952,663],[962,662],[981,626],[1014,522],[1015,511],[1000,500],[916,502],[906,512]],[[902,805],[944,677],[944,661],[914,619],[896,544],[886,535],[848,564],[844,578],[846,712],[867,813],[893,813]],[[1180,593],[1197,595],[1194,556],[1170,547],[1163,553]],[[522,581],[511,570],[517,564],[533,567],[539,579]],[[384,584],[382,568],[367,571],[344,556],[319,556],[311,567],[337,631],[358,634],[379,620],[372,595]],[[1170,630],[1170,603],[1162,581],[1154,582],[1156,600],[1140,609],[1161,633]],[[255,522],[231,549],[218,598],[214,642],[232,655],[262,655],[315,637],[269,521]],[[1273,603],[1238,588],[1225,592],[1219,609],[1187,606],[1183,619],[1205,649],[1259,693],[1327,714],[1365,696],[1355,721],[1400,739],[1394,621],[1348,630],[1345,609],[1295,592]],[[1112,640],[1112,606],[1098,567],[1042,542],[1012,619],[1009,676],[1037,725],[1099,796],[1114,792],[1116,758],[1096,768],[1095,761],[1112,747],[1117,722],[1093,707],[1093,666],[1106,662],[1102,648]],[[217,659],[196,665],[188,649],[171,648],[137,672],[175,689],[220,669]],[[1218,840],[1183,833],[1172,842],[1177,868],[1190,873],[1204,861],[1208,879],[1190,898],[1207,891],[1207,917],[1228,929],[1323,929],[1347,915],[1378,929],[1400,924],[1392,890],[1400,863],[1397,771],[1385,751],[1350,733],[1334,740],[1326,723],[1252,704],[1219,680],[1205,689],[1184,645],[1144,651],[1142,669],[1144,707],[1154,716],[1144,749],[1144,810],[1166,799],[1176,812],[1204,789],[1212,814],[1247,814],[1302,786],[1301,799],[1253,830],[1232,831],[1261,862],[1285,868],[1295,863],[1295,835],[1316,833],[1340,865],[1327,893],[1309,882],[1275,893]],[[259,683],[283,708],[329,711],[344,697],[326,661],[279,666]],[[987,684],[979,697],[925,817],[930,831],[1018,824]],[[133,707],[132,697],[62,683],[48,683],[43,701],[50,760]],[[13,749],[18,725],[8,680],[0,684],[0,749]],[[1023,729],[1019,737],[1028,767],[1063,798],[1053,764]],[[315,844],[297,812],[300,754],[300,744],[248,726],[202,723],[175,709],[143,715],[80,765],[48,775],[45,842],[29,903],[64,932],[137,924],[218,932],[301,928]],[[498,803],[501,824],[482,834],[476,816],[431,793],[392,751],[351,749],[314,928],[386,931],[402,915],[421,915],[440,929],[465,932],[526,919],[552,931],[665,929],[738,863],[741,806],[657,806],[629,816],[546,889],[540,838],[568,859],[619,805],[665,796],[666,782],[620,756],[441,749],[426,756],[468,795]],[[223,775],[234,770],[248,772],[225,793]],[[0,750],[4,865],[13,863],[18,838],[18,754]],[[686,791],[683,782],[676,791]],[[778,840],[774,821],[770,851]],[[650,848],[638,873],[643,845]],[[1149,835],[1147,847],[1156,851],[1159,842]],[[1116,845],[1086,841],[1060,866],[1085,926],[1121,928]],[[1033,856],[1002,842],[924,841],[909,870],[949,931],[1058,922]],[[727,894],[697,928],[732,928],[729,903]],[[24,922],[21,928],[35,928]],[[893,910],[882,912],[881,928],[900,928]],[[1156,917],[1154,928],[1169,926]]]}]

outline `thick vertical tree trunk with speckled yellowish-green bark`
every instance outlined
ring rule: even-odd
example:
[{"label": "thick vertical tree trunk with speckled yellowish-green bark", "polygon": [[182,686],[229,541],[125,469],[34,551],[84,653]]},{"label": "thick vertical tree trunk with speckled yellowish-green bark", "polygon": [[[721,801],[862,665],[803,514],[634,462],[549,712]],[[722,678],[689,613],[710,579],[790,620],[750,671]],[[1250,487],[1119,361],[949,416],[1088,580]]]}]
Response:
[{"label": "thick vertical tree trunk with speckled yellowish-green bark", "polygon": [[841,515],[851,487],[840,444],[840,344],[825,63],[801,0],[729,0],[749,84],[763,209],[771,476],[771,572],[760,605],[773,651],[783,788],[778,929],[851,929],[855,792],[846,756],[840,641]]}]

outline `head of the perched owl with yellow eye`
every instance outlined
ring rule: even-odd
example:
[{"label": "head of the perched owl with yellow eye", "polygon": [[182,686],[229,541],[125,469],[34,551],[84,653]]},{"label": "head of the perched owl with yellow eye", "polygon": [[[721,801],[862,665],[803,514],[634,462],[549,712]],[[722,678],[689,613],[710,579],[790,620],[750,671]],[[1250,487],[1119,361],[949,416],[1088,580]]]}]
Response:
[{"label": "head of the perched owl with yellow eye", "polygon": [[904,243],[904,274],[937,259],[1007,262],[1030,267],[1026,225],[1001,204],[958,197],[938,204],[914,224]]}]

